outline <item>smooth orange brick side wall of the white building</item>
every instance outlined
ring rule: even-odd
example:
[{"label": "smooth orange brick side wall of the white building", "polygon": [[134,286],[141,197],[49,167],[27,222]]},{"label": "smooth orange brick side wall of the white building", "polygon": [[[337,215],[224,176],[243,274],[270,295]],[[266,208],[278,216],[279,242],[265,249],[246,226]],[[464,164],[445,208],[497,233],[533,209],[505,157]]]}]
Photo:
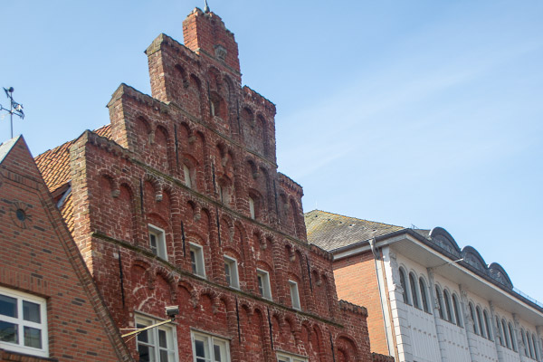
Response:
[{"label": "smooth orange brick side wall of the white building", "polygon": [[388,354],[385,320],[377,285],[376,266],[371,252],[334,262],[338,298],[367,308],[367,328],[372,351]]}]

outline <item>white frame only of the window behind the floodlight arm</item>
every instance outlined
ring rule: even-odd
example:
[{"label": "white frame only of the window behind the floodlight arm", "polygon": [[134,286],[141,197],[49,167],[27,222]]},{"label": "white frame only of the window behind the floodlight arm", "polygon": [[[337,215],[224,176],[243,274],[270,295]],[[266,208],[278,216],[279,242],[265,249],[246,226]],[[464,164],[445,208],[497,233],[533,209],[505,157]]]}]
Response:
[{"label": "white frame only of the window behind the floodlight arm", "polygon": [[[154,319],[151,317],[143,316],[143,315],[136,315],[136,327],[138,326],[151,326],[153,324],[156,324],[158,322],[161,322],[163,319]],[[160,335],[161,332],[165,333],[167,339],[167,344],[170,344],[171,346],[160,346]],[[142,341],[140,338],[143,336],[148,337],[148,341]],[[171,324],[165,324],[162,326],[158,326],[152,329],[144,330],[143,332],[138,334],[138,337],[136,338],[136,349],[138,350],[139,355],[139,346],[147,346],[149,347],[149,350],[152,350],[152,357],[149,359],[151,361],[160,361],[160,352],[166,352],[168,356],[168,361],[176,362],[179,360],[179,357],[177,355],[177,337],[176,337],[176,327]],[[172,359],[173,358],[173,359]]]}]

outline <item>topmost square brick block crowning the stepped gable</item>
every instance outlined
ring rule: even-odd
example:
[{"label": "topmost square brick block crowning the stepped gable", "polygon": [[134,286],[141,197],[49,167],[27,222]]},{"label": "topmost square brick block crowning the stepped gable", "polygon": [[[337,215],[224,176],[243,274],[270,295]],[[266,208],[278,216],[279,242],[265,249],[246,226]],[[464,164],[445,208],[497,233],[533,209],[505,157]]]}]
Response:
[{"label": "topmost square brick block crowning the stepped gable", "polygon": [[224,26],[223,19],[213,12],[195,8],[183,22],[185,46],[199,55],[205,53],[241,76],[237,43]]}]

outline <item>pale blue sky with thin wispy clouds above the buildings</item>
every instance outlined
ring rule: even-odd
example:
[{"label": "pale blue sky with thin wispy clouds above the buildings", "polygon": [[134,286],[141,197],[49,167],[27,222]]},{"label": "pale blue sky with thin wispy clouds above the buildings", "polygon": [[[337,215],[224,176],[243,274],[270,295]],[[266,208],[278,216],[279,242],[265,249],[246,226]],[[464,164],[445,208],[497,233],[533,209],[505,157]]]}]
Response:
[{"label": "pale blue sky with thin wispy clouds above the buildings", "polygon": [[[121,82],[150,93],[148,44],[182,42],[200,3],[0,5],[0,86],[26,113],[15,134],[38,155],[107,124]],[[543,301],[542,2],[209,3],[243,83],[277,105],[279,169],[305,211],[443,226]]]}]

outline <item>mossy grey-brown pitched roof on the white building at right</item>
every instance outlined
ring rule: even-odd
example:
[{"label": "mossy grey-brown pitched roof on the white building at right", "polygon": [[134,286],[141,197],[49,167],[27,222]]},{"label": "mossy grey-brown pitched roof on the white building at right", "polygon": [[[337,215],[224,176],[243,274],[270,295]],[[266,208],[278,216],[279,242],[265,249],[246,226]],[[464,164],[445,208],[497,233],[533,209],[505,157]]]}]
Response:
[{"label": "mossy grey-brown pitched roof on the white building at right", "polygon": [[313,210],[305,215],[308,241],[324,250],[335,250],[405,227]]}]

